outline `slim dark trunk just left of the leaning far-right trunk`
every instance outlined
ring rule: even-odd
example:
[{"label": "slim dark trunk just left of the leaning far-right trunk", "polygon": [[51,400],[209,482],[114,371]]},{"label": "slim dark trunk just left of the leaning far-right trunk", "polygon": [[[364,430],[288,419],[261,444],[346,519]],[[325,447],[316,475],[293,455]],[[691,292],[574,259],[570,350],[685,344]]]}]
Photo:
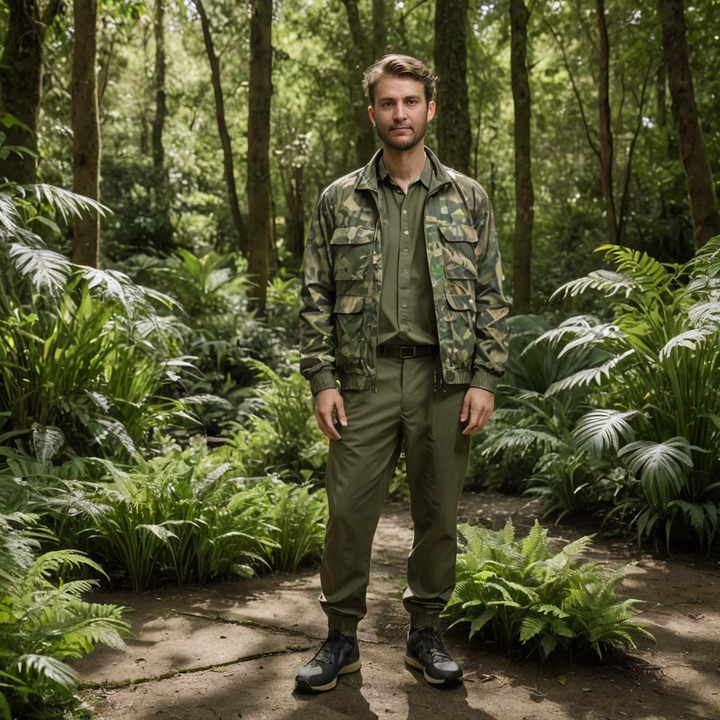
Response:
[{"label": "slim dark trunk just left of the leaning far-right trunk", "polygon": [[610,42],[605,19],[605,0],[596,0],[600,44],[600,84],[598,86],[598,120],[600,138],[600,178],[605,196],[608,240],[618,241],[618,220],[613,194],[613,131],[610,115]]}]

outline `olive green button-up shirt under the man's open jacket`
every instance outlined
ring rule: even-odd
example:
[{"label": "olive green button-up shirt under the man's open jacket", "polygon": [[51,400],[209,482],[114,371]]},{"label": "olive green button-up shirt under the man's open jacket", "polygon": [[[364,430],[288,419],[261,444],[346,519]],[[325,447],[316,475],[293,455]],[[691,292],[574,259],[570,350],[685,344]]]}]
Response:
[{"label": "olive green button-up shirt under the man's open jacket", "polygon": [[390,176],[382,155],[377,177],[382,222],[378,343],[437,345],[438,327],[424,229],[433,166],[426,156],[423,171],[408,186],[408,194]]}]

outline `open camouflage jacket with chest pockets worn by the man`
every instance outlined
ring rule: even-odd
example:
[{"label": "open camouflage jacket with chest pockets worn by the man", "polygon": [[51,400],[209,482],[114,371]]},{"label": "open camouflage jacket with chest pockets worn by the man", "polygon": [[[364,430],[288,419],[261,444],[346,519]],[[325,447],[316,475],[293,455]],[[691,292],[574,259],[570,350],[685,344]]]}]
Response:
[{"label": "open camouflage jacket with chest pockets worn by the man", "polygon": [[[300,372],[312,394],[375,390],[382,281],[378,152],[330,184],[312,215],[300,292]],[[425,240],[442,384],[495,390],[508,356],[503,271],[487,193],[426,148],[434,177]]]}]

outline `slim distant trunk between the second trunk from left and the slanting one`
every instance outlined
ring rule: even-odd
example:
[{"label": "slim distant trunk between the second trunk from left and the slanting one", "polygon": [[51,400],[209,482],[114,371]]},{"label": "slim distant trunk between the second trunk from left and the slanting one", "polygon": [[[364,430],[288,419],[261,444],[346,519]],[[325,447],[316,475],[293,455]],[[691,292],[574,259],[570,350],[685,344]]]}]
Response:
[{"label": "slim distant trunk between the second trunk from left and the slanting one", "polygon": [[153,117],[153,175],[156,210],[160,222],[156,245],[169,251],[173,245],[170,222],[170,181],[165,166],[163,129],[168,114],[165,94],[165,0],[155,0],[155,117]]}]

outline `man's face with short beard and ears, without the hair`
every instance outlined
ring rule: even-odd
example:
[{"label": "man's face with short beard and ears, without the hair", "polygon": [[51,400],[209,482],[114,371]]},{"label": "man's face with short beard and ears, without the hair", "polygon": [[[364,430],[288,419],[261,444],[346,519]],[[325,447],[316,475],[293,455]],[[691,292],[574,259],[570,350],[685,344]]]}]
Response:
[{"label": "man's face with short beard and ears, without the hair", "polygon": [[426,102],[425,86],[419,80],[384,75],[375,86],[375,103],[367,112],[383,145],[410,150],[425,137],[435,102]]}]

